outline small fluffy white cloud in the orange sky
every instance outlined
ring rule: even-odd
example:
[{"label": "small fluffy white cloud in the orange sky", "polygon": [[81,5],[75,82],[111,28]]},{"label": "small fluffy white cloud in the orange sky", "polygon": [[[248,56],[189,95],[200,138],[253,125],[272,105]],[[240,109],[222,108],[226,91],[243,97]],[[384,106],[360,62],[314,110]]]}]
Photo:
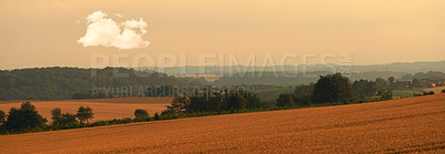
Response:
[{"label": "small fluffy white cloud in the orange sky", "polygon": [[138,49],[150,44],[142,40],[142,34],[147,33],[147,22],[131,19],[117,23],[107,13],[96,11],[87,18],[87,33],[77,42],[83,47],[115,47],[118,49]]}]

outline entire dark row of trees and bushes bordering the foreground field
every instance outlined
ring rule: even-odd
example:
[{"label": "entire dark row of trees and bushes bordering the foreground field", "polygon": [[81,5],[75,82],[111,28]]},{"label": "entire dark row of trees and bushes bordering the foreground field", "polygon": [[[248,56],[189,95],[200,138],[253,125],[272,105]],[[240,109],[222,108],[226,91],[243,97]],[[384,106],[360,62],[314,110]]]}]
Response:
[{"label": "entire dark row of trees and bushes bordering the foreground field", "polygon": [[[52,125],[46,125],[46,119],[37,114],[34,106],[29,102],[23,103],[20,110],[11,109],[8,120],[0,126],[1,134],[27,133],[40,131],[57,131],[66,129],[91,127],[131,122],[146,122],[158,120],[171,120],[181,117],[195,117],[218,114],[260,112],[273,110],[286,110],[298,107],[315,107],[327,105],[339,105],[345,103],[362,103],[370,100],[354,100],[380,96],[375,100],[390,100],[392,91],[383,89],[379,82],[367,80],[356,81],[350,84],[349,79],[342,74],[320,76],[316,84],[296,86],[294,93],[279,94],[276,99],[276,106],[268,106],[261,102],[257,94],[250,91],[219,91],[194,94],[176,95],[171,104],[161,114],[155,113],[149,116],[147,111],[138,109],[135,111],[135,119],[121,119],[111,121],[97,121],[89,123],[93,117],[92,109],[80,106],[77,114],[61,114],[60,109],[51,111]],[[374,101],[374,100],[373,100]],[[79,121],[78,121],[79,120]]]}]

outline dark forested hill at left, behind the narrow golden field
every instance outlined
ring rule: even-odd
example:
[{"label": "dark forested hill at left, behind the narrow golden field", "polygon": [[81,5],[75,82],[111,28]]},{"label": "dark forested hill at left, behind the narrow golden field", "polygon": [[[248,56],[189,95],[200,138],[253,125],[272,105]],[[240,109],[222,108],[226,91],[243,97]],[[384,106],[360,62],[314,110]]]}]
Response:
[{"label": "dark forested hill at left, behind the narrow golden field", "polygon": [[[116,78],[115,72],[128,74],[128,78]],[[112,93],[111,90],[98,91],[93,88],[139,88],[158,85],[192,86],[184,79],[168,76],[164,73],[136,71],[122,68],[78,69],[43,68],[0,71],[0,100],[69,100],[90,97],[131,96],[128,93]],[[116,91],[116,90],[115,90]],[[138,93],[132,93],[138,96]]]}]

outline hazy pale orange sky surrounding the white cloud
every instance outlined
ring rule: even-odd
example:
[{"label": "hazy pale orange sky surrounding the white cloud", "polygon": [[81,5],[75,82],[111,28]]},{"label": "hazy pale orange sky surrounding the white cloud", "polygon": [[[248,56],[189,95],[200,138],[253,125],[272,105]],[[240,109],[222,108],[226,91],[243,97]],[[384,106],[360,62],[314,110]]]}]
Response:
[{"label": "hazy pale orange sky surrounding the white cloud", "polygon": [[[131,61],[187,53],[188,65],[212,53],[225,61],[235,54],[239,64],[255,53],[257,65],[267,54],[279,64],[288,53],[297,58],[286,64],[301,63],[305,54],[333,54],[328,62],[338,63],[342,53],[352,53],[354,64],[438,61],[445,60],[444,8],[444,0],[3,0],[0,69],[88,68],[92,54]],[[139,48],[116,48],[131,47],[125,39],[116,47],[78,43],[87,17],[99,10],[118,24],[142,18]]]}]

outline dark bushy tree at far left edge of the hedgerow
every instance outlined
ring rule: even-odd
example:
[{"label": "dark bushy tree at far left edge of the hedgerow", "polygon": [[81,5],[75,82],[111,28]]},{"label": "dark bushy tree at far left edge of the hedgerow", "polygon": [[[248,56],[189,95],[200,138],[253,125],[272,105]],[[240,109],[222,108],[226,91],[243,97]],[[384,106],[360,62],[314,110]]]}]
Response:
[{"label": "dark bushy tree at far left edge of the hedgerow", "polygon": [[3,125],[7,130],[21,131],[43,126],[46,122],[47,119],[36,111],[36,106],[26,102],[20,109],[11,107]]}]

